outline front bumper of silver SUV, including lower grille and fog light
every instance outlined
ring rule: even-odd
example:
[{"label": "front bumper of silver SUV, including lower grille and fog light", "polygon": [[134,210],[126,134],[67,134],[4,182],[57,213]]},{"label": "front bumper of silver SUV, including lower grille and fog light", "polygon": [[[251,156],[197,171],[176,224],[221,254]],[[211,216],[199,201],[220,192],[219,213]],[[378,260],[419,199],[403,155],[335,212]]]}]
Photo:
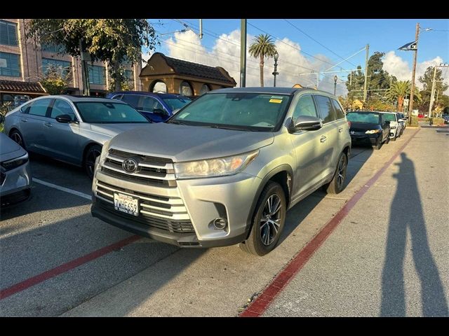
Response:
[{"label": "front bumper of silver SUV, including lower grille and fog light", "polygon": [[[91,213],[123,230],[180,247],[229,246],[246,239],[250,208],[261,182],[255,176],[239,173],[176,180],[175,188],[163,188],[116,179],[97,169]],[[116,211],[112,202],[115,192],[139,198],[143,212],[133,216]],[[163,200],[157,201],[156,197]],[[150,198],[154,200],[153,207],[147,207]],[[158,202],[165,202],[166,211],[159,211],[162,204]],[[225,218],[227,226],[222,230],[215,228],[215,218]]]}]

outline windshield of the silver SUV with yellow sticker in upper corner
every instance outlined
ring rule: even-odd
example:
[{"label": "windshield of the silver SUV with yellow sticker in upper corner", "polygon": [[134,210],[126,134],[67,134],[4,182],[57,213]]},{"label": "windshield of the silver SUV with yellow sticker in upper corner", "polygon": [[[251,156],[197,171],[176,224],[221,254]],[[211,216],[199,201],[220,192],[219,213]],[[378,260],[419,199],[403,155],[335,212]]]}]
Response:
[{"label": "windshield of the silver SUV with yellow sticker in upper corner", "polygon": [[285,116],[290,96],[229,92],[204,94],[168,123],[272,132]]}]

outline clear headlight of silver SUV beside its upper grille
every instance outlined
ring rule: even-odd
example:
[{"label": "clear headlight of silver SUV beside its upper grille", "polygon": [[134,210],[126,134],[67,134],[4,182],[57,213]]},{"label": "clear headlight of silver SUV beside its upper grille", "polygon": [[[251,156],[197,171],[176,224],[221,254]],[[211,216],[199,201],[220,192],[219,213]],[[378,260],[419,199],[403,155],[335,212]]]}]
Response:
[{"label": "clear headlight of silver SUV beside its upper grille", "polygon": [[234,175],[253,162],[259,154],[259,150],[243,153],[227,158],[216,158],[209,160],[177,162],[175,163],[175,174],[177,179],[194,179],[201,177]]}]

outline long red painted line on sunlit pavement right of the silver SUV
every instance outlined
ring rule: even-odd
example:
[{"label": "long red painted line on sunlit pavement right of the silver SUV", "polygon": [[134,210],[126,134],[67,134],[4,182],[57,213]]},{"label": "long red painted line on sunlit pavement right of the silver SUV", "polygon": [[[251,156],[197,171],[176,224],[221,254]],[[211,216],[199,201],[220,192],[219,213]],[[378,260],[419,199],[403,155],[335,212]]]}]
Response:
[{"label": "long red painted line on sunlit pavement right of the silver SUV", "polygon": [[417,134],[417,132],[420,132],[420,129],[418,129],[410,139],[406,142],[406,144],[403,144],[401,148],[398,149],[398,151],[391,157],[389,161],[385,163],[385,165],[371,178],[366,182],[363,187],[358,190],[344,206],[340,211],[333,216],[333,218],[330,218],[330,221],[324,225],[324,227],[321,229],[318,234],[309,241],[309,243],[302,248],[301,251],[299,251],[290,262],[284,267],[284,269],[279,272],[271,283],[265,288],[260,295],[257,296],[257,298],[251,302],[251,304],[246,308],[245,311],[241,312],[239,315],[240,317],[259,317],[264,313],[264,311],[267,310],[270,304],[274,301],[274,298],[281,293],[281,291],[286,288],[288,283],[293,279],[293,277],[297,274],[297,272],[300,272],[302,267],[306,264],[307,260],[310,259],[310,257],[318,250],[318,248],[323,244],[324,241],[329,237],[329,235],[333,232],[335,228],[337,228],[337,225],[340,224],[340,222],[343,220],[344,217],[349,214],[349,211],[351,211],[352,208],[357,204],[358,200],[361,199],[363,195],[368,191],[368,189],[373,186],[375,181],[379,179],[379,177],[387,170],[389,165],[391,165],[394,160],[398,157],[398,155],[406,148],[408,143],[410,142],[413,137]]}]

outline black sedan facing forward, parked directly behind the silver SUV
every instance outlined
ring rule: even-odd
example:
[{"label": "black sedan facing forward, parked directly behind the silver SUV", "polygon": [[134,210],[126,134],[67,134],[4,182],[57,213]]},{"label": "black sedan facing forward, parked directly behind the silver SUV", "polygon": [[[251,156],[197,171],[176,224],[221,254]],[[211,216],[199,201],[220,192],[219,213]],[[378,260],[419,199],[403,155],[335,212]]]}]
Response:
[{"label": "black sedan facing forward, parked directly behind the silver SUV", "polygon": [[351,123],[349,134],[352,144],[368,144],[380,149],[390,141],[390,124],[379,112],[349,112],[346,115]]}]

